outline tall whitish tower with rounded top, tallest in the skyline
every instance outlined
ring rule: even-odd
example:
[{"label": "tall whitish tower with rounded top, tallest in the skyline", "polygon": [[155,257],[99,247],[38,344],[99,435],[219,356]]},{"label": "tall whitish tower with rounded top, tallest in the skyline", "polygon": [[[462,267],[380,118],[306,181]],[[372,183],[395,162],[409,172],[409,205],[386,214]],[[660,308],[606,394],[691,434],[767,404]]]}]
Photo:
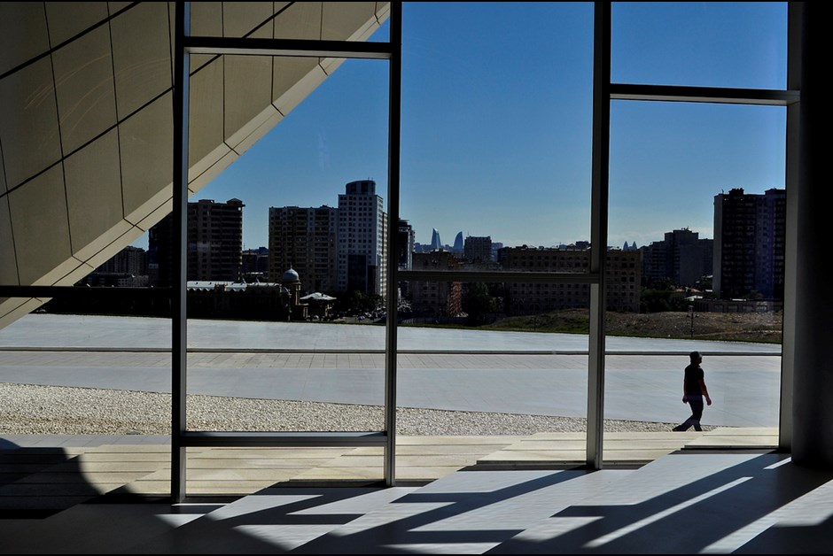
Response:
[{"label": "tall whitish tower with rounded top, tallest in the skyline", "polygon": [[387,214],[376,181],[346,184],[339,195],[338,290],[384,296]]}]

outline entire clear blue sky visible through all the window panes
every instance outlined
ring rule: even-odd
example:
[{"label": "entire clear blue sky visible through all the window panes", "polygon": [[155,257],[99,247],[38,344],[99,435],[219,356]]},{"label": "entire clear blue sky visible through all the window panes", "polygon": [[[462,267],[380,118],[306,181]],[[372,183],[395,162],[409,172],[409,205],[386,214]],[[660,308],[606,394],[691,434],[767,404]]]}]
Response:
[{"label": "entire clear blue sky visible through all the window panes", "polygon": [[[614,82],[783,89],[785,3],[614,3]],[[406,3],[401,205],[416,241],[589,239],[591,3]],[[387,26],[372,40],[386,40]],[[245,248],[269,206],[338,205],[374,179],[387,202],[387,63],[346,60],[191,200],[244,201]],[[780,107],[611,104],[608,244],[689,228],[713,198],[784,187]]]}]

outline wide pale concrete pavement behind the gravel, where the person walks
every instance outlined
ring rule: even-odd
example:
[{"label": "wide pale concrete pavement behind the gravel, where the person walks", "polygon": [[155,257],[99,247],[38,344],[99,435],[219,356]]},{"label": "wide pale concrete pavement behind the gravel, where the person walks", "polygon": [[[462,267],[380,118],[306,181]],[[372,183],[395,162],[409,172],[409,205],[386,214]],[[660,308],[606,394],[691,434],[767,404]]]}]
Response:
[{"label": "wide pale concrete pavement behind the gravel, where the person walks", "polygon": [[[588,337],[400,328],[401,406],[583,417]],[[385,328],[193,320],[191,394],[381,405]],[[0,382],[169,392],[170,321],[30,314],[0,329]],[[70,351],[66,351],[69,349]],[[683,421],[682,369],[704,353],[704,424],[778,426],[781,346],[607,341],[605,417]]]}]

